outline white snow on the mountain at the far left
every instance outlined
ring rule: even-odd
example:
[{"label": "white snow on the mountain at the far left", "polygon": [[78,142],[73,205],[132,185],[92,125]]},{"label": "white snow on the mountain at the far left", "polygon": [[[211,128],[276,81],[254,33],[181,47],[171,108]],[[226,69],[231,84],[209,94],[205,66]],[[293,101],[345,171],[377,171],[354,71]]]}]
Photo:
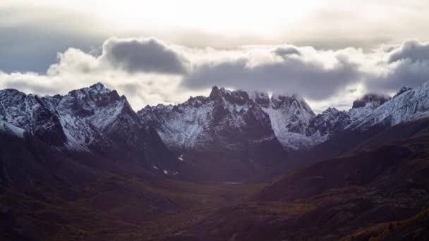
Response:
[{"label": "white snow on the mountain at the far left", "polygon": [[[119,99],[111,101],[107,106],[98,106],[96,101],[105,98],[104,94],[108,93],[109,90],[101,83],[75,90],[65,96],[42,97],[38,100],[32,94],[4,89],[0,91],[0,119],[3,118],[11,126],[35,134],[35,130],[49,129],[56,125],[49,120],[35,120],[35,116],[40,116],[42,111],[54,113],[66,135],[66,148],[87,152],[88,146],[94,142],[108,142],[100,133],[107,132],[105,129],[116,121],[123,107],[128,104],[126,100]],[[40,104],[40,101],[44,105]],[[87,111],[87,114],[75,113],[76,108]],[[14,132],[20,135],[22,131],[14,129]]]}]

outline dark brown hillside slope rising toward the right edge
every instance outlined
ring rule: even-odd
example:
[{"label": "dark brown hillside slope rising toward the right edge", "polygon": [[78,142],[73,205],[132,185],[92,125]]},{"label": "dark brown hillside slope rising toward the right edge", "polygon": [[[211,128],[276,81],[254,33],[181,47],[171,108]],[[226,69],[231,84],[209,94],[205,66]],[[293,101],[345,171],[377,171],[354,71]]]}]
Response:
[{"label": "dark brown hillside slope rising toward the right edge", "polygon": [[375,146],[289,171],[171,240],[425,240],[428,123],[403,123],[377,135]]}]

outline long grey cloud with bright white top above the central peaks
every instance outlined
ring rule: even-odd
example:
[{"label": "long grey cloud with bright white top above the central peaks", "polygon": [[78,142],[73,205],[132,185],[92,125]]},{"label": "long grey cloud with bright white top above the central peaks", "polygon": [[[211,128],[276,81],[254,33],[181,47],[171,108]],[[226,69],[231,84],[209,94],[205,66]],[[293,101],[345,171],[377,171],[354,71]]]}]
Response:
[{"label": "long grey cloud with bright white top above the central peaks", "polygon": [[312,47],[281,45],[241,49],[235,55],[236,58],[195,63],[182,85],[190,89],[219,85],[326,99],[346,92],[349,85],[361,80],[356,56],[363,52],[358,50],[317,51]]}]

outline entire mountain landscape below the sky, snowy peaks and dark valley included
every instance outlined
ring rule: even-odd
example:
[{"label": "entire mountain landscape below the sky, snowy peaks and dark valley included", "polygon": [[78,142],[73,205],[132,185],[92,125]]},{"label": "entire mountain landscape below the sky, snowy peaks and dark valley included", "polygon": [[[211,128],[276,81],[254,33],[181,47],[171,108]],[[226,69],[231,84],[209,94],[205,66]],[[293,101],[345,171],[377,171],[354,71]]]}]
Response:
[{"label": "entire mountain landscape below the sky, snowy peaks and dark valley included", "polygon": [[294,94],[213,87],[135,112],[102,83],[0,90],[0,235],[428,237],[428,98],[426,82],[316,115]]}]

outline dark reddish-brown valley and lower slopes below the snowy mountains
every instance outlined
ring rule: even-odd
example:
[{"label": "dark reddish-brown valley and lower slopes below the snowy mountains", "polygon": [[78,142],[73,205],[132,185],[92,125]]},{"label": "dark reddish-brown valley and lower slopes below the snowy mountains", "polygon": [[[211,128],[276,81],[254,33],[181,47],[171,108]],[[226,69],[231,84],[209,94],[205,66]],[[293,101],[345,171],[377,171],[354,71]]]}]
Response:
[{"label": "dark reddish-brown valley and lower slopes below the snowy mountains", "polygon": [[269,183],[172,180],[16,143],[0,144],[2,240],[429,238],[429,119]]}]

